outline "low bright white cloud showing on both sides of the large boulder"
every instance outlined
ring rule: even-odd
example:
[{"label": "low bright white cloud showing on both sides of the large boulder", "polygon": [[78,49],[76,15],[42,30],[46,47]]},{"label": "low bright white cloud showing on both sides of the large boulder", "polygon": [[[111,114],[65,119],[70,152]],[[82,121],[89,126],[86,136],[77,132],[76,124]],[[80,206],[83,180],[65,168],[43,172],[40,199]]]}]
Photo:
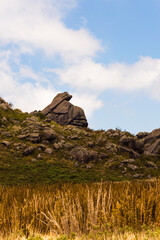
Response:
[{"label": "low bright white cloud showing on both sides of the large boulder", "polygon": [[[36,73],[31,67],[21,65],[19,71],[14,72],[9,65],[10,55],[10,51],[0,53],[0,96],[22,111],[31,112],[35,109],[43,109],[58,91],[43,73]],[[26,79],[32,79],[32,81],[26,81]],[[102,106],[98,97],[89,93],[74,92],[71,102],[82,107],[87,118]]]}]

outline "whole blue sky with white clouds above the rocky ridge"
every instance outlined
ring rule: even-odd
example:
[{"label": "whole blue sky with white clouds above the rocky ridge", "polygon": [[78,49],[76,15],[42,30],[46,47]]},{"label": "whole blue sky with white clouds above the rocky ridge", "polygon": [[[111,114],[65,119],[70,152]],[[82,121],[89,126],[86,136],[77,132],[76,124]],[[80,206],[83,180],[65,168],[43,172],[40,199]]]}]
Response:
[{"label": "whole blue sky with white clouds above the rocky ridge", "polygon": [[160,0],[0,0],[0,96],[42,110],[59,92],[92,129],[159,128]]}]

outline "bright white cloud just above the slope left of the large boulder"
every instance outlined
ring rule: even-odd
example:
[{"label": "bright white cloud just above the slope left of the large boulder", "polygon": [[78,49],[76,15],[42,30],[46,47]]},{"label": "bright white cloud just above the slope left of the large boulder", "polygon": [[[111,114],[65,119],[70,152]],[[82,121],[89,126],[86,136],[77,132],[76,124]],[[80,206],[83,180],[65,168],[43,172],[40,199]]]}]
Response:
[{"label": "bright white cloud just above the slope left of the large boulder", "polygon": [[[9,66],[8,55],[9,51],[0,54],[0,96],[6,101],[12,102],[14,107],[20,108],[23,111],[33,111],[35,109],[43,109],[50,103],[57,91],[50,86],[45,87],[39,83],[40,76],[34,73],[31,69],[15,73]],[[23,82],[23,77],[31,77],[34,82]]]}]

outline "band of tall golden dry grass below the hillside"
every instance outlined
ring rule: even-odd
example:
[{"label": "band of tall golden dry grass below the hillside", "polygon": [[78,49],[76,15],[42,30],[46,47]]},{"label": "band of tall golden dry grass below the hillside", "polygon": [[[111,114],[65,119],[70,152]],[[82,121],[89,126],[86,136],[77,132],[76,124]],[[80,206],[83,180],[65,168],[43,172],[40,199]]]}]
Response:
[{"label": "band of tall golden dry grass below the hillside", "polygon": [[[19,237],[30,237],[36,232],[52,236],[75,233],[77,237],[96,234],[93,239],[98,239],[99,233],[99,239],[108,240],[107,233],[126,226],[137,230],[144,226],[160,227],[159,179],[35,187],[0,186],[2,239],[17,233]],[[110,239],[144,239],[131,237]]]}]

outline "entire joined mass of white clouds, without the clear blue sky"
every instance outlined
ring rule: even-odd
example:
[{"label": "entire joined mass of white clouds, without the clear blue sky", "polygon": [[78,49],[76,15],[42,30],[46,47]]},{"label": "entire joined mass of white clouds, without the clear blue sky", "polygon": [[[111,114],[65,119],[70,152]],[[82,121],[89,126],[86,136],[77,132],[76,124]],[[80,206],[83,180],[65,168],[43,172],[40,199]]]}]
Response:
[{"label": "entire joined mass of white clouds, without the clear blue sky", "polygon": [[[61,86],[69,86],[72,102],[83,107],[87,117],[102,107],[100,94],[108,89],[144,90],[160,100],[160,59],[97,62],[103,51],[99,39],[85,27],[65,25],[66,14],[76,5],[76,0],[0,1],[0,95],[24,111],[42,109],[59,90],[49,78],[54,73]],[[82,21],[85,26],[84,17]],[[51,69],[35,70],[22,61],[22,56],[34,58],[37,53],[53,62]],[[56,56],[61,59],[57,69]]]}]

